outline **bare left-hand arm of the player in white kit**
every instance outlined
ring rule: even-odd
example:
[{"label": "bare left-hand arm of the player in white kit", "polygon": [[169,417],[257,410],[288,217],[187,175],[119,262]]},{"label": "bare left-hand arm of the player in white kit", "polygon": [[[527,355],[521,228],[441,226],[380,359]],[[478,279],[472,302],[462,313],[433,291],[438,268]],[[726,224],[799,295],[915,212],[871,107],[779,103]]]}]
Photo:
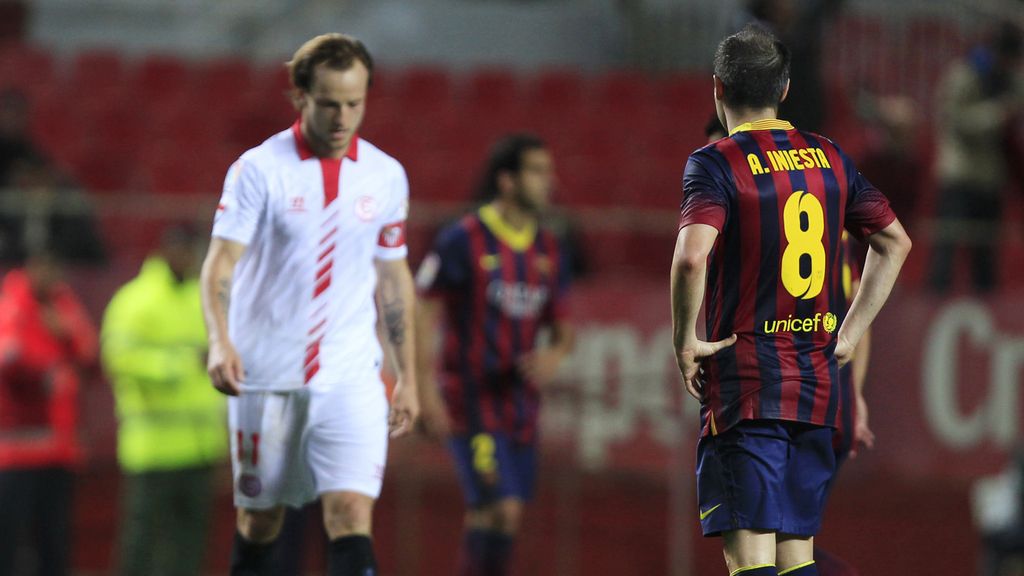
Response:
[{"label": "bare left-hand arm of the player in white kit", "polygon": [[214,238],[200,275],[203,320],[210,341],[207,371],[213,386],[228,396],[238,396],[241,382],[245,379],[242,359],[227,334],[234,266],[245,250],[244,244]]}]

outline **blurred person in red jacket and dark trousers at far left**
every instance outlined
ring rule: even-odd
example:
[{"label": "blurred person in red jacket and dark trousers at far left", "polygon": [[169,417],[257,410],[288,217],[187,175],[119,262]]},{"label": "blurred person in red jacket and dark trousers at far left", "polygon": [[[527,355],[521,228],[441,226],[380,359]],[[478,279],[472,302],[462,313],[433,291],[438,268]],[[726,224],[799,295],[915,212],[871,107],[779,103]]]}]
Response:
[{"label": "blurred person in red jacket and dark trousers at far left", "polygon": [[[0,291],[0,574],[69,570],[80,371],[96,332],[47,251]],[[19,554],[22,544],[31,558]]]}]

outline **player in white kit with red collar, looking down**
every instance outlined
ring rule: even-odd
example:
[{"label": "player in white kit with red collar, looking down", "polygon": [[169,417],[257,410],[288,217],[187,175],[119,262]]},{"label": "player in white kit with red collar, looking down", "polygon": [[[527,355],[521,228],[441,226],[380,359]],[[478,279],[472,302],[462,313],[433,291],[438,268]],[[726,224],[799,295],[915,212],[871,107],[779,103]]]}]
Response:
[{"label": "player in white kit with red collar, looking down", "polygon": [[[230,574],[272,574],[284,506],[318,495],[329,574],[373,576],[388,436],[419,412],[409,183],[357,133],[373,74],[362,43],[317,36],[288,67],[299,119],[231,165],[203,265],[209,372],[231,397]],[[390,410],[378,313],[398,375]]]}]

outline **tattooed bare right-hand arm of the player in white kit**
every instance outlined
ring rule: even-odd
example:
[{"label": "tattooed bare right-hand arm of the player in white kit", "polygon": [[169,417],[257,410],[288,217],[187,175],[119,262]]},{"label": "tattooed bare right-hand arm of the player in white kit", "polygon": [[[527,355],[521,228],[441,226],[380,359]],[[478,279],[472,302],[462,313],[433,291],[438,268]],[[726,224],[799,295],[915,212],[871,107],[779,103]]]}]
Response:
[{"label": "tattooed bare right-hand arm of the player in white kit", "polygon": [[416,292],[413,275],[404,258],[377,260],[377,305],[391,347],[395,373],[398,375],[391,396],[388,427],[391,438],[400,438],[413,430],[420,415],[420,400],[416,386],[416,334],[414,314]]}]

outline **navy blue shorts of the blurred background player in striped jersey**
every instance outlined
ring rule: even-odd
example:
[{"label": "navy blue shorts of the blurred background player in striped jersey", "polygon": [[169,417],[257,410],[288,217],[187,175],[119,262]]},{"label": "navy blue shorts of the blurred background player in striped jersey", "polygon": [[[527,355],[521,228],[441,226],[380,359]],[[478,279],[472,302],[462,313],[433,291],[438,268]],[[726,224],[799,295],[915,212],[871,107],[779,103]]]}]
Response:
[{"label": "navy blue shorts of the blurred background player in striped jersey", "polygon": [[537,445],[514,442],[502,433],[455,436],[449,440],[459,484],[471,508],[505,498],[529,500],[537,477]]}]

